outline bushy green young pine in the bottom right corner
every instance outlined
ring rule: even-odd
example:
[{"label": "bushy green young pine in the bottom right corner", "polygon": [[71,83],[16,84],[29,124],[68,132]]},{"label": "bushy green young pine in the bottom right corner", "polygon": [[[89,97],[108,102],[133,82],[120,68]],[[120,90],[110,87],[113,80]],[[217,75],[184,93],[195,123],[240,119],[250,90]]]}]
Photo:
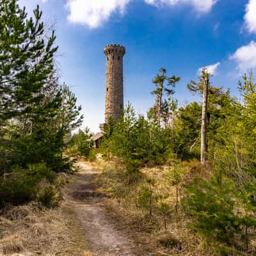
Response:
[{"label": "bushy green young pine in the bottom right corner", "polygon": [[185,187],[185,209],[193,216],[191,228],[217,244],[221,255],[234,255],[228,254],[232,248],[249,250],[256,225],[256,205],[251,197],[255,185],[252,182],[237,189],[232,179],[218,173]]}]

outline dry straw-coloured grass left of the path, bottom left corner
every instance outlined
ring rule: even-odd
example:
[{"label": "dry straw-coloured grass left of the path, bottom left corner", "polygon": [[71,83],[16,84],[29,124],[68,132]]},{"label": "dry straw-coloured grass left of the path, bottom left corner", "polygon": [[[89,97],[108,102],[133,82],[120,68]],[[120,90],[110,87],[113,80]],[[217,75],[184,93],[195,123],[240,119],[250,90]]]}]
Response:
[{"label": "dry straw-coloured grass left of the path, bottom left corner", "polygon": [[1,256],[83,255],[79,223],[65,204],[51,210],[36,204],[6,207],[0,216]]}]

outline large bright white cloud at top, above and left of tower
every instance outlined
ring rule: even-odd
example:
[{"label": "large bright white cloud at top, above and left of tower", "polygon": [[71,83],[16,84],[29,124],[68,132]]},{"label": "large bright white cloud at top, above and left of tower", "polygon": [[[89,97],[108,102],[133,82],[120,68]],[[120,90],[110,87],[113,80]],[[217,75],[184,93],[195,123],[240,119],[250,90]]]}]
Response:
[{"label": "large bright white cloud at top, above and left of tower", "polygon": [[125,6],[131,0],[68,0],[67,8],[70,11],[68,20],[74,23],[85,24],[90,28],[97,28],[110,15],[118,11],[123,13]]}]

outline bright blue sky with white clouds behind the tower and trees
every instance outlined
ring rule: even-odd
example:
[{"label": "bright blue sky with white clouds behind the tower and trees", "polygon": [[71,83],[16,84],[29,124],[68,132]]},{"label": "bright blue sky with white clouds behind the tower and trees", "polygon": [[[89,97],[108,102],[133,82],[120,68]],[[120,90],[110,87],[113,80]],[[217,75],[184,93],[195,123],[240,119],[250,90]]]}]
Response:
[{"label": "bright blue sky with white clouds behind the tower and trees", "polygon": [[186,84],[204,66],[212,84],[231,88],[256,71],[256,0],[20,0],[32,13],[36,3],[54,24],[58,65],[83,107],[93,132],[104,121],[104,45],[125,45],[124,97],[138,113],[154,104],[152,78],[159,68],[181,77],[180,105],[200,100]]}]

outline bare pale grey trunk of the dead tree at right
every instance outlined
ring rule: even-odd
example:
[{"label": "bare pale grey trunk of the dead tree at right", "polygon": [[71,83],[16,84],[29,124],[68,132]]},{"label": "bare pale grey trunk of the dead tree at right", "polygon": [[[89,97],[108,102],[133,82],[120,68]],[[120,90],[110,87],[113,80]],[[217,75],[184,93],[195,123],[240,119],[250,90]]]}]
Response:
[{"label": "bare pale grey trunk of the dead tree at right", "polygon": [[202,104],[202,127],[201,127],[201,163],[205,163],[207,152],[207,103],[208,103],[208,90],[209,90],[209,77],[205,76],[204,79],[204,92],[203,92],[203,104]]}]

